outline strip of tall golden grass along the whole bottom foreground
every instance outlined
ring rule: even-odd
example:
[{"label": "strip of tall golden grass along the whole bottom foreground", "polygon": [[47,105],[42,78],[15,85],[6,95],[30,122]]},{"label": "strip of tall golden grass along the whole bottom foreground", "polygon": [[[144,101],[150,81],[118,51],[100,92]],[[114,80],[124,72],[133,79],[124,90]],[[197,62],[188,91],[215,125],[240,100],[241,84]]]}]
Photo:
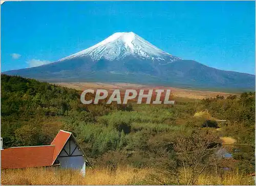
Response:
[{"label": "strip of tall golden grass along the whole bottom foreground", "polygon": [[[130,184],[177,184],[166,177],[153,176],[150,168],[137,169],[129,166],[117,167],[116,171],[106,168],[87,169],[86,176],[82,177],[79,171],[56,168],[28,168],[16,170],[2,170],[1,183],[3,185],[130,185]],[[180,183],[185,180],[181,172]],[[239,171],[227,171],[222,175],[202,174],[196,184],[221,185],[253,185],[251,176],[244,176]]]}]

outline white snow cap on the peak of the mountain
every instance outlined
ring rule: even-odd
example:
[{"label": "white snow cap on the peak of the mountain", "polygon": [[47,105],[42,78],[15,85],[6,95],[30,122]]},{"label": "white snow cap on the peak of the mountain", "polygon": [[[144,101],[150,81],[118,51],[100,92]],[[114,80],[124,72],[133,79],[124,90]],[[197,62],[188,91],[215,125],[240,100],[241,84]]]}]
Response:
[{"label": "white snow cap on the peak of the mountain", "polygon": [[96,45],[59,61],[77,57],[91,57],[94,61],[104,58],[112,61],[122,60],[127,56],[165,61],[165,63],[180,59],[157,48],[133,32],[117,32]]}]

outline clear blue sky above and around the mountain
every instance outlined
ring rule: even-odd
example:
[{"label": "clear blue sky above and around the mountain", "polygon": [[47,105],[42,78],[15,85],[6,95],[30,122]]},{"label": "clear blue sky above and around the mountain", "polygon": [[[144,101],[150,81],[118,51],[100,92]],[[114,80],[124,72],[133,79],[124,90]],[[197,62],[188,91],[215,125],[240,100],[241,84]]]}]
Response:
[{"label": "clear blue sky above and around the mountain", "polygon": [[169,54],[254,74],[253,2],[5,2],[2,71],[54,62],[115,32]]}]

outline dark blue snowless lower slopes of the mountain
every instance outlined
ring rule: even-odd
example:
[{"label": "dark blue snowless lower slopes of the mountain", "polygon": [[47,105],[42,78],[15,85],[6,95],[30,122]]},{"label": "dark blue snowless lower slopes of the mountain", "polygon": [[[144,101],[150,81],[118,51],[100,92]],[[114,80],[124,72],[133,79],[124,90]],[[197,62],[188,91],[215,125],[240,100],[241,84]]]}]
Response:
[{"label": "dark blue snowless lower slopes of the mountain", "polygon": [[134,58],[123,62],[76,58],[4,73],[52,83],[112,82],[229,92],[255,90],[254,75],[219,70],[191,60],[154,64]]}]

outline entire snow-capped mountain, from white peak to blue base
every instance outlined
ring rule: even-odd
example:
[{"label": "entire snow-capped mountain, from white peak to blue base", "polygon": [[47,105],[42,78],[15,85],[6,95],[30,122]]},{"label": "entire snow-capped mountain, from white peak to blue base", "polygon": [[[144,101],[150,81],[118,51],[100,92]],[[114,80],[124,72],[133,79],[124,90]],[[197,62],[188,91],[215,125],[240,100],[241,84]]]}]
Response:
[{"label": "entire snow-capped mountain, from white peak to blue base", "polygon": [[254,90],[255,75],[211,68],[168,54],[133,32],[119,32],[56,62],[3,72],[48,82],[125,82]]}]

